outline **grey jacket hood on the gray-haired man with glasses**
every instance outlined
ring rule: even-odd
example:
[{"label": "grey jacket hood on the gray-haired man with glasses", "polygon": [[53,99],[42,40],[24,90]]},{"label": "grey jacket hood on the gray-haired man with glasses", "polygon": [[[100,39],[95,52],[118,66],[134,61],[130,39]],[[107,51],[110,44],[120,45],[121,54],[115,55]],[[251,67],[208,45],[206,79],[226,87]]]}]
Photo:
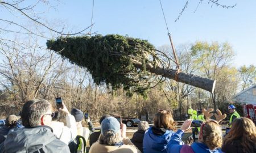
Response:
[{"label": "grey jacket hood on the gray-haired man with glasses", "polygon": [[4,145],[6,152],[35,152],[55,139],[48,126],[16,128],[9,132]]}]

